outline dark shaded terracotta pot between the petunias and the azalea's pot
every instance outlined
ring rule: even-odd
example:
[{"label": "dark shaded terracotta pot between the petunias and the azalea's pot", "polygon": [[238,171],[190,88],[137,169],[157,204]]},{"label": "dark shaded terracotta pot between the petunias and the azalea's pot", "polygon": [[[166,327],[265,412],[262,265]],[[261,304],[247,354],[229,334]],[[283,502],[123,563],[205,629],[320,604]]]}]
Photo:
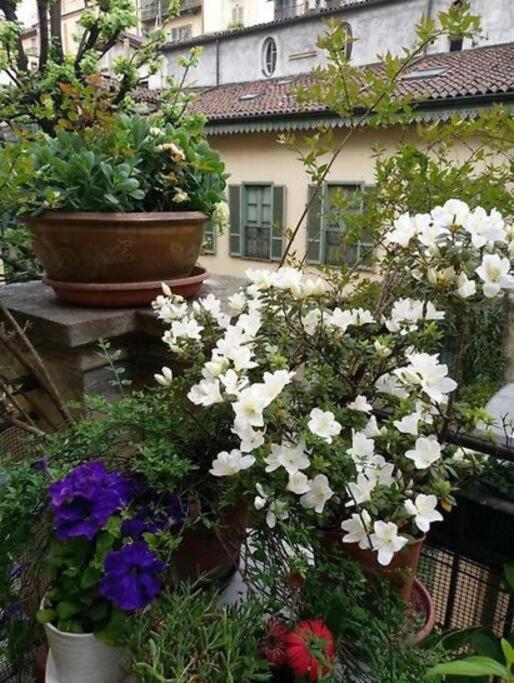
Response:
[{"label": "dark shaded terracotta pot between the petunias and the azalea's pot", "polygon": [[232,576],[239,565],[241,543],[247,520],[246,507],[225,510],[216,530],[201,523],[184,531],[182,541],[173,554],[173,571],[177,578],[223,581]]}]

